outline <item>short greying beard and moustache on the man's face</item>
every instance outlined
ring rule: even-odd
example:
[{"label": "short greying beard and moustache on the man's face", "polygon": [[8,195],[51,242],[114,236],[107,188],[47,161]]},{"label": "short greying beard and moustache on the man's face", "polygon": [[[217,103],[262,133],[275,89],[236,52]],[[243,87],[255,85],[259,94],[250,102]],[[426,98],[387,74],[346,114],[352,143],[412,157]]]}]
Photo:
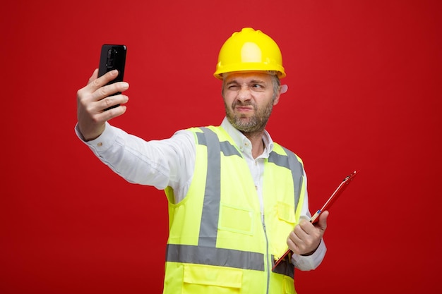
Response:
[{"label": "short greying beard and moustache on the man's face", "polygon": [[[252,103],[251,101],[245,103],[235,101],[230,107],[227,106],[225,102],[224,104],[227,120],[235,128],[237,128],[237,130],[240,130],[241,133],[258,133],[263,131],[273,110],[273,100],[271,100],[267,105],[264,105],[261,109],[258,109],[256,104]],[[233,109],[235,109],[236,106],[252,106],[255,114],[250,117],[246,116],[245,114],[234,114]]]}]

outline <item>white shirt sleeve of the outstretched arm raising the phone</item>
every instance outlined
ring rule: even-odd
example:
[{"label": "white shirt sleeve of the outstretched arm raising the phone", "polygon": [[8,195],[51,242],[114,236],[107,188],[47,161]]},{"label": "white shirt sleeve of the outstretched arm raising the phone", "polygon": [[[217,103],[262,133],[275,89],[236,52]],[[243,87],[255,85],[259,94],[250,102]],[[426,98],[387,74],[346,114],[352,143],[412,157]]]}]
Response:
[{"label": "white shirt sleeve of the outstretched arm raising the phone", "polygon": [[159,190],[170,186],[177,197],[191,183],[196,147],[188,130],[179,130],[169,139],[145,141],[106,123],[100,137],[88,142],[78,125],[75,130],[104,164],[129,183],[153,185]]}]

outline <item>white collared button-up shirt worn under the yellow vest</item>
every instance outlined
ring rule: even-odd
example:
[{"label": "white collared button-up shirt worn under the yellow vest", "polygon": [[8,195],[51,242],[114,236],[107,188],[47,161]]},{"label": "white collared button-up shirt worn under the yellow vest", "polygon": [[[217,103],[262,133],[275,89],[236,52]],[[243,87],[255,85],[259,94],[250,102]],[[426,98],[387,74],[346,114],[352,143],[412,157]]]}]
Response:
[{"label": "white collared button-up shirt worn under the yellow vest", "polygon": [[[253,159],[250,140],[234,128],[227,118],[224,118],[221,126],[232,137],[249,165],[261,203],[261,216],[264,216],[263,168],[265,159],[273,149],[273,140],[265,131],[263,154]],[[78,126],[76,126],[76,134],[83,140]],[[145,141],[106,123],[100,137],[85,144],[112,171],[130,183],[153,185],[160,190],[170,186],[174,189],[175,203],[183,200],[189,190],[196,156],[194,135],[189,130],[179,130],[169,139]],[[305,171],[304,178],[306,180]],[[307,192],[304,195],[301,216],[308,219],[311,217]],[[321,240],[321,244],[312,255],[292,255],[292,262],[297,269],[302,271],[316,269],[321,264],[326,250],[325,243]]]}]

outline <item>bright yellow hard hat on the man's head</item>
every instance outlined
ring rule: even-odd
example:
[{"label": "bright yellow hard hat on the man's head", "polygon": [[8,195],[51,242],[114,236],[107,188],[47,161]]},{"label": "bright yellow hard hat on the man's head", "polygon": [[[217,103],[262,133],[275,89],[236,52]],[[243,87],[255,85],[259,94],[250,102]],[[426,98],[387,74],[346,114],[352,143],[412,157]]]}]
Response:
[{"label": "bright yellow hard hat on the man's head", "polygon": [[223,73],[234,71],[275,71],[279,78],[284,78],[280,48],[261,30],[244,27],[222,45],[213,75],[222,80]]}]

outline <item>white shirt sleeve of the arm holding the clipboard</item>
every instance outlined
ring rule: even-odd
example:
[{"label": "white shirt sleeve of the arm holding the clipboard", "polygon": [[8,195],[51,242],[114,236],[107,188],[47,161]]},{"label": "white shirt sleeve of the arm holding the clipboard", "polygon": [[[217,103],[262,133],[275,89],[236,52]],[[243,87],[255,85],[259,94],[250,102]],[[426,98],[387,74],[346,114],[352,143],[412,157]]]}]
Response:
[{"label": "white shirt sleeve of the arm holding the clipboard", "polygon": [[[306,172],[304,171],[304,180],[306,181],[305,185],[307,187],[307,177],[305,176]],[[301,209],[301,217],[306,217],[307,219],[311,218],[311,213],[309,211],[309,195],[306,189],[304,195],[304,203]],[[321,240],[318,248],[312,255],[304,256],[304,255],[292,255],[292,263],[294,267],[301,271],[310,271],[312,269],[316,269],[319,264],[323,261],[325,257],[325,252],[327,252],[327,247],[325,247],[324,240]]]}]

